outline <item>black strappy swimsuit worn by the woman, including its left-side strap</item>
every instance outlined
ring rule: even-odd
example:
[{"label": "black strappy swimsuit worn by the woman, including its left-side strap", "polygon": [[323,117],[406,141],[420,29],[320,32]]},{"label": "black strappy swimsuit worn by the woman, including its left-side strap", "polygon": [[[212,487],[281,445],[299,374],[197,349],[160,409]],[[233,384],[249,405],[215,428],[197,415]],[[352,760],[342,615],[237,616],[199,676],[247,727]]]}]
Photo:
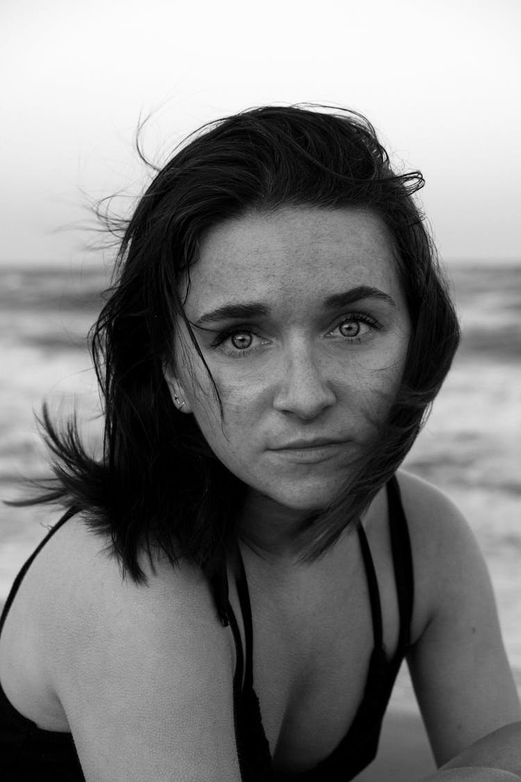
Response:
[{"label": "black strappy swimsuit worn by the woman, including its left-side strap", "polygon": [[[344,738],[326,759],[305,773],[291,780],[295,782],[348,782],[366,768],[376,756],[380,728],[387,703],[391,697],[394,680],[401,662],[409,649],[410,624],[413,600],[412,554],[409,531],[401,506],[398,482],[392,478],[387,483],[391,548],[394,576],[400,612],[398,648],[391,660],[387,659],[382,638],[382,612],[380,593],[376,581],[373,558],[366,535],[359,525],[359,540],[366,568],[371,612],[373,615],[374,648],[369,662],[369,673],[362,702]],[[56,529],[59,529],[74,511],[66,515],[45,536],[36,551],[31,554],[12,585],[0,617],[0,633],[5,616],[12,604],[16,590],[31,562]],[[238,551],[238,547],[237,547]],[[239,553],[237,592],[244,621],[246,662],[244,689],[244,651],[241,635],[233,609],[228,599],[227,575],[224,567],[217,579],[212,579],[216,606],[223,624],[230,622],[237,650],[237,666],[234,674],[234,721],[237,753],[244,782],[277,780],[273,772],[269,744],[262,727],[259,699],[253,688],[252,675],[252,612],[248,597],[248,584]],[[38,728],[30,719],[22,716],[6,698],[0,685],[0,766],[5,782],[22,782],[37,779],[39,782],[80,782],[84,780],[80,762],[70,733]],[[287,777],[286,777],[287,778]]]}]

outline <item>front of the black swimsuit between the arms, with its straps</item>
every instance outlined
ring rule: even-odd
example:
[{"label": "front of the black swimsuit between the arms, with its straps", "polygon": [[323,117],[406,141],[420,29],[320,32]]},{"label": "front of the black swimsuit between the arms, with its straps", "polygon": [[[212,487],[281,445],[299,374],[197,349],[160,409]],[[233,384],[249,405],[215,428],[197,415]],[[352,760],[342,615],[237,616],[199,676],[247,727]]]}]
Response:
[{"label": "front of the black swimsuit between the arms, with its straps", "polygon": [[[355,719],[334,751],[309,771],[299,773],[294,777],[284,777],[285,779],[295,780],[295,782],[297,780],[298,782],[324,782],[324,780],[327,780],[327,782],[348,782],[348,780],[359,774],[362,769],[365,769],[376,757],[380,728],[389,698],[391,698],[394,681],[398,675],[401,662],[409,650],[414,586],[409,530],[401,506],[398,482],[394,477],[387,483],[387,501],[394,577],[396,579],[400,613],[400,632],[397,650],[394,657],[388,660],[382,637],[380,592],[378,590],[373,558],[369,551],[366,534],[362,525],[359,525],[359,540],[363,561],[366,566],[374,636],[374,648],[369,662],[364,696],[355,714]],[[248,597],[248,584],[241,559],[237,591],[241,602],[246,642],[246,671],[244,691],[242,693],[243,652],[241,636],[237,620],[229,603],[228,615],[234,631],[237,648],[237,669],[234,677],[234,712],[241,776],[244,782],[277,780],[277,775],[272,769],[269,743],[262,727],[259,699],[253,688],[252,612]],[[339,617],[340,619],[341,617]],[[280,779],[282,778],[280,777]]]}]

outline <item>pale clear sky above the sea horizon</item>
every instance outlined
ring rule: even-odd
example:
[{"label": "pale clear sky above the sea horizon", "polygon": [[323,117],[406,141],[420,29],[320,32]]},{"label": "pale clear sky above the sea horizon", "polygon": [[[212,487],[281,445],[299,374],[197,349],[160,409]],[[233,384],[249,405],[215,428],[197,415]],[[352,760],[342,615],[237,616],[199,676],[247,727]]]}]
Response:
[{"label": "pale clear sky above the sea horizon", "polygon": [[125,213],[145,152],[264,104],[371,120],[422,171],[444,260],[519,260],[519,0],[2,0],[0,263],[92,264],[89,201]]}]

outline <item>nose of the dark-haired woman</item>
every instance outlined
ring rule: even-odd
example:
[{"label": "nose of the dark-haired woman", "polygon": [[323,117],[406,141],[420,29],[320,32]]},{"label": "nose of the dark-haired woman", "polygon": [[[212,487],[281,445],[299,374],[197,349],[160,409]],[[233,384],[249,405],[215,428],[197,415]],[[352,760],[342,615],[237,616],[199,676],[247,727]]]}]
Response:
[{"label": "nose of the dark-haired woman", "polygon": [[273,407],[277,411],[311,420],[334,405],[336,396],[328,382],[326,368],[311,348],[289,347],[279,371],[273,396]]}]

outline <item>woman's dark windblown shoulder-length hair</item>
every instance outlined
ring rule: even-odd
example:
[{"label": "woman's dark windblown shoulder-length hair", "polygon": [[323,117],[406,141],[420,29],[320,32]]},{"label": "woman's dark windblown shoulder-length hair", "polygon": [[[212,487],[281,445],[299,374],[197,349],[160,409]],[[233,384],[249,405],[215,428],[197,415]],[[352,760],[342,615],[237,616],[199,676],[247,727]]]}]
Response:
[{"label": "woman's dark windblown shoulder-length hair", "polygon": [[301,561],[327,551],[393,475],[450,368],[459,327],[412,199],[422,175],[394,174],[369,121],[333,108],[262,106],[187,137],[124,223],[112,287],[91,329],[103,456],[87,453],[76,416],[56,428],[44,405],[55,477],[23,504],[55,501],[84,511],[91,529],[112,538],[123,575],[138,583],[146,580],[141,547],[149,557],[151,546],[161,548],[173,565],[186,555],[211,574],[237,534],[244,485],[212,454],[194,417],[174,408],[163,375],[165,362],[175,362],[176,317],[184,317],[177,285],[209,228],[252,210],[351,206],[379,215],[392,238],[412,321],[401,386],[355,478],[306,523]]}]

